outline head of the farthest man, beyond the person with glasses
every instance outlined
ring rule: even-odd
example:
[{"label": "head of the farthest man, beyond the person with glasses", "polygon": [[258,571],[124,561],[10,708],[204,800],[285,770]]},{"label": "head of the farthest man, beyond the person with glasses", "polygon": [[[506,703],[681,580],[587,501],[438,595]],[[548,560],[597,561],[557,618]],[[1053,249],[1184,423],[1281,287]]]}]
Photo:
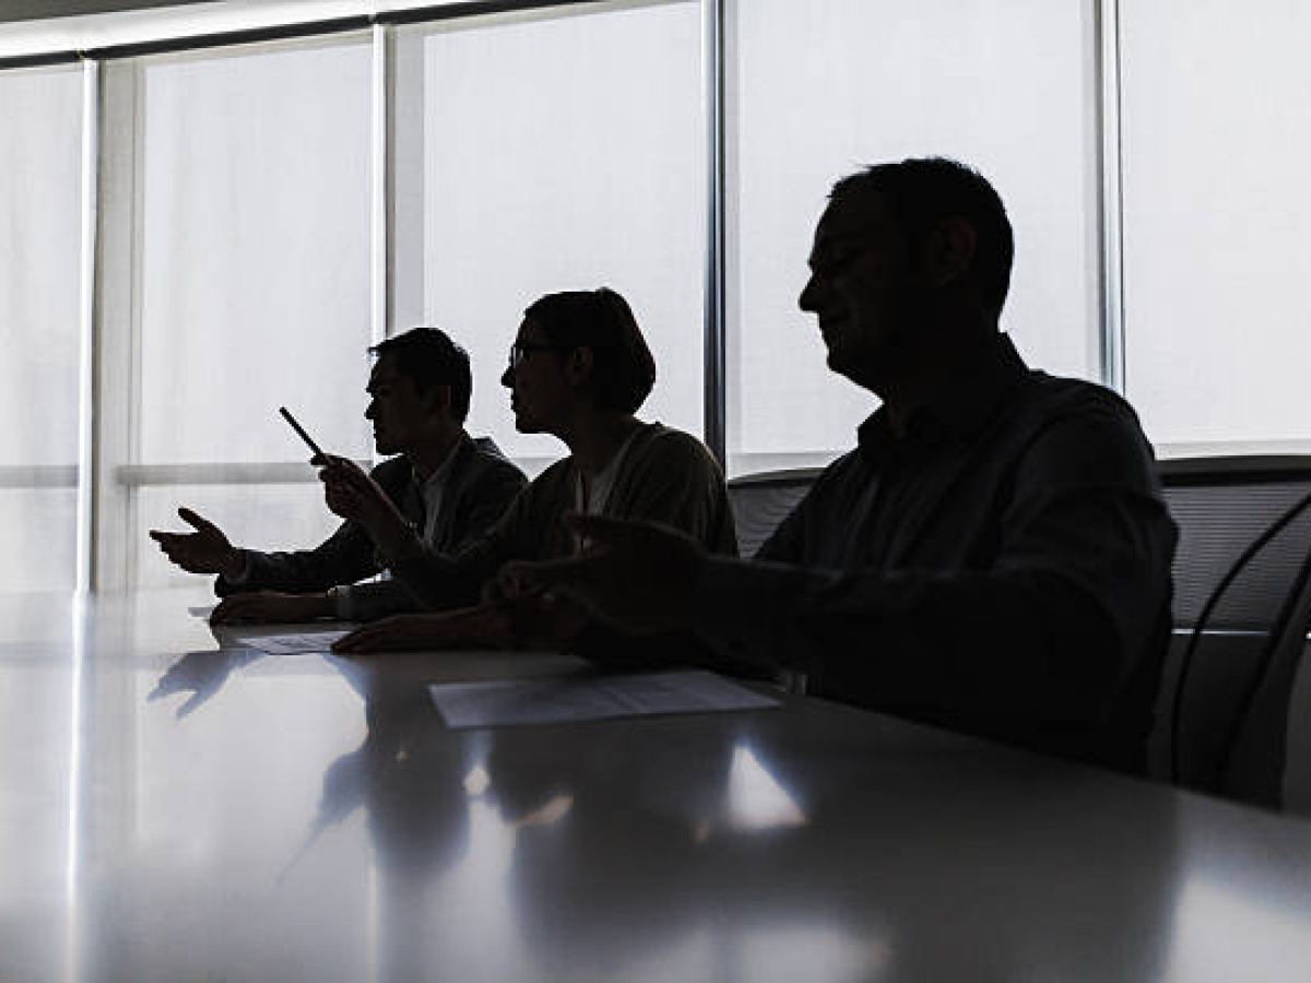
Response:
[{"label": "head of the farthest man, beyond the person with glasses", "polygon": [[435,328],[416,328],[371,347],[368,409],[379,453],[406,453],[459,429],[473,375],[464,349]]}]

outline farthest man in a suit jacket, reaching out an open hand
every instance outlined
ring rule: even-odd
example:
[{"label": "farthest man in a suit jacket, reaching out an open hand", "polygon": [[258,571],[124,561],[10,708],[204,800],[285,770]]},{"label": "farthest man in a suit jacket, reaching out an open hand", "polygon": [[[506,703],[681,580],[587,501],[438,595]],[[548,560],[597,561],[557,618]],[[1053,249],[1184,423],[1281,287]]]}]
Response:
[{"label": "farthest man in a suit jacket, reaching out an open hand", "polygon": [[[492,440],[465,433],[469,357],[444,332],[417,328],[368,351],[376,362],[364,417],[378,453],[395,455],[372,469],[372,482],[425,543],[459,549],[501,518],[526,484],[523,472]],[[370,620],[418,608],[399,583],[357,583],[385,566],[358,522],[347,519],[313,549],[264,553],[233,547],[189,509],[178,514],[194,532],[151,536],[184,570],[219,575],[214,590],[225,600],[215,623]]]}]

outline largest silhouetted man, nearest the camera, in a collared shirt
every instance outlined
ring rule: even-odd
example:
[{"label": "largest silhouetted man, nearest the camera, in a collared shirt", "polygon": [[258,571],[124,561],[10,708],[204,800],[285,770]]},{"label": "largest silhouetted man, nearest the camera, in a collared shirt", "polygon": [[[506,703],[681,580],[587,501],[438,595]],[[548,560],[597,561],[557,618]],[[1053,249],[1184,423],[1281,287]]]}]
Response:
[{"label": "largest silhouetted man, nearest the camera, in a collared shirt", "polygon": [[1130,406],[1032,371],[998,329],[1012,258],[992,187],[948,160],[839,181],[800,304],[881,397],[755,562],[654,526],[574,520],[590,556],[511,564],[631,629],[692,628],[810,692],[1138,771],[1176,530]]}]

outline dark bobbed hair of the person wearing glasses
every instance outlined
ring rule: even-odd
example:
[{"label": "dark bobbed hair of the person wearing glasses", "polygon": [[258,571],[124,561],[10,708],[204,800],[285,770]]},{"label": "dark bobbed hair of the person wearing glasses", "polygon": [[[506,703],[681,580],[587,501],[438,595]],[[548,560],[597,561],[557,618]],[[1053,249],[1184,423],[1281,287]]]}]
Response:
[{"label": "dark bobbed hair of the person wearing glasses", "polygon": [[615,413],[636,413],[656,385],[656,359],[628,301],[608,287],[547,294],[526,318],[552,345],[591,349],[597,402]]}]

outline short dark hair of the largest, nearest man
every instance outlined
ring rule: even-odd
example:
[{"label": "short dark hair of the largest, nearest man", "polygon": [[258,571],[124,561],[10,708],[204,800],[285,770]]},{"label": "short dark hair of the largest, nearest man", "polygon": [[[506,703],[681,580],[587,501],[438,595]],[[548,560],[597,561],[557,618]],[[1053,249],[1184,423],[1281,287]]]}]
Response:
[{"label": "short dark hair of the largest, nearest man", "polygon": [[962,218],[974,227],[974,263],[970,267],[983,301],[1002,313],[1011,287],[1015,235],[1002,198],[982,174],[948,157],[910,157],[876,164],[848,174],[832,186],[829,199],[851,193],[881,195],[893,220],[919,248],[943,219]]}]

